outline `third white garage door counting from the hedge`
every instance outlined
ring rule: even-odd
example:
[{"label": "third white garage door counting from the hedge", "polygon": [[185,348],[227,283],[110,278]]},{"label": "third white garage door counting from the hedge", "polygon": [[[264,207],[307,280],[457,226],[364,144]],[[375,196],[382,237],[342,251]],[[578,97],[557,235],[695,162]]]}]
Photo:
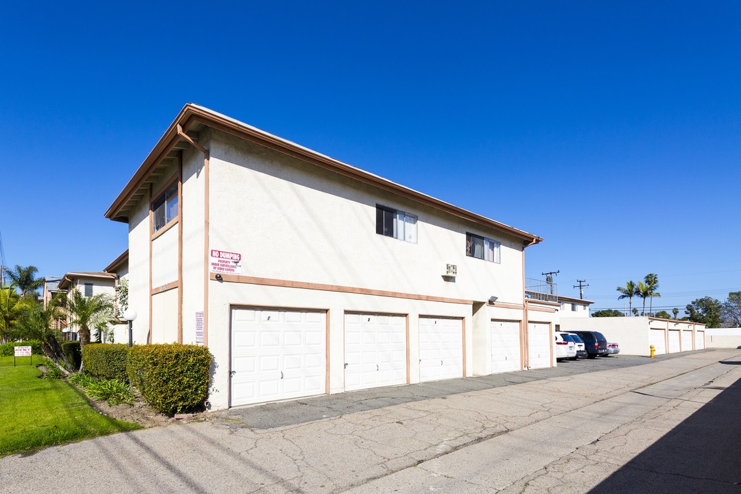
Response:
[{"label": "third white garage door counting from the hedge", "polygon": [[419,381],[463,377],[463,320],[419,318]]}]

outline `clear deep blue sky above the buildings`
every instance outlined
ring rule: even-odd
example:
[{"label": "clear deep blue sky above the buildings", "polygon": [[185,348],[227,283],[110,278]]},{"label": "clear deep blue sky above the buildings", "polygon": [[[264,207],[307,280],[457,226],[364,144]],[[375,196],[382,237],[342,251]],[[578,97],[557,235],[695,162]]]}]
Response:
[{"label": "clear deep blue sky above the buildings", "polygon": [[102,270],[103,213],[195,102],[545,238],[527,275],[594,307],[741,290],[741,4],[5,5],[7,264]]}]

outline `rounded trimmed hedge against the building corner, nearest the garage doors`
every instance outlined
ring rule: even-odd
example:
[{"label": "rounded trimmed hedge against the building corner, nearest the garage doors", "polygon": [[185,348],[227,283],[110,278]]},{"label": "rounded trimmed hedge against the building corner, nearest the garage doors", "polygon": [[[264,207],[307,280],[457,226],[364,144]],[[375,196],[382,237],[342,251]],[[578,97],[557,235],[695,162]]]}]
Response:
[{"label": "rounded trimmed hedge against the building corner, nearest the garage doors", "polygon": [[196,345],[136,345],[129,350],[127,374],[154,409],[184,413],[206,399],[212,358],[206,347]]}]

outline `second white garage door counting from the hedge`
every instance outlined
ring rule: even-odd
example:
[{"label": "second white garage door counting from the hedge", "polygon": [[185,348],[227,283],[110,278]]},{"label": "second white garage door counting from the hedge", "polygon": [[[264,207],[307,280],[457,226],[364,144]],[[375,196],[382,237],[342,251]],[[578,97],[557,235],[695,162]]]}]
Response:
[{"label": "second white garage door counting from the hedge", "polygon": [[406,382],[405,316],[345,314],[345,391]]}]

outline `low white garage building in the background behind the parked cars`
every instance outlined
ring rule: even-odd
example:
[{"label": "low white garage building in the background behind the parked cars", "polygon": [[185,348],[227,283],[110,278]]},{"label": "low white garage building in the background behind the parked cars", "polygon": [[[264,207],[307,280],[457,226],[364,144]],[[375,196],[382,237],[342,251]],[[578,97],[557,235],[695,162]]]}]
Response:
[{"label": "low white garage building in the background behind the parked cars", "polygon": [[620,353],[650,356],[705,348],[705,324],[655,317],[560,318],[563,331],[599,331]]}]

